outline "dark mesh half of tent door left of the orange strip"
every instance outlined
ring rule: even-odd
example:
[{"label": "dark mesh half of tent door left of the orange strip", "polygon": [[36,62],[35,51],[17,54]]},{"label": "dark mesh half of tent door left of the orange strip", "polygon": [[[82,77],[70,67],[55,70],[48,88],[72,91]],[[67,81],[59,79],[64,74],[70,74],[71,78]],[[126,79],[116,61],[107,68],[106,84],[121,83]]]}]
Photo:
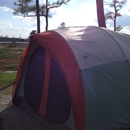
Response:
[{"label": "dark mesh half of tent door left of the orange strip", "polygon": [[24,93],[28,104],[39,110],[45,77],[45,50],[38,47],[32,54],[25,77]]}]

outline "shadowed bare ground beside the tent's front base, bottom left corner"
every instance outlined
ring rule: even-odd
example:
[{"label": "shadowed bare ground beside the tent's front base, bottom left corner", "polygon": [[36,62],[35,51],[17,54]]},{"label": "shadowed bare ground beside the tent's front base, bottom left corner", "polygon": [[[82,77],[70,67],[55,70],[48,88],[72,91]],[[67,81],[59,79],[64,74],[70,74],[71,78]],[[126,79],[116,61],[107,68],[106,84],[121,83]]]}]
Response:
[{"label": "shadowed bare ground beside the tent's front base, bottom left corner", "polygon": [[0,117],[2,130],[47,130],[41,123],[14,105],[8,105],[11,94],[0,93]]}]

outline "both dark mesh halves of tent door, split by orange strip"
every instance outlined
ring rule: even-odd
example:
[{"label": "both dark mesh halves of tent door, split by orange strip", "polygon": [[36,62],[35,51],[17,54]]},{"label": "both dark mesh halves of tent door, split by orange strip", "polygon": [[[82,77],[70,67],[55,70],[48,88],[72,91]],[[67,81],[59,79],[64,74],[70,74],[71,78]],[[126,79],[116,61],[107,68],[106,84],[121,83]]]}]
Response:
[{"label": "both dark mesh halves of tent door, split by orange strip", "polygon": [[[25,77],[25,99],[30,107],[39,111],[45,79],[45,50],[37,48],[32,54]],[[55,124],[64,123],[70,115],[71,103],[65,77],[51,59],[50,78],[45,117]]]}]

